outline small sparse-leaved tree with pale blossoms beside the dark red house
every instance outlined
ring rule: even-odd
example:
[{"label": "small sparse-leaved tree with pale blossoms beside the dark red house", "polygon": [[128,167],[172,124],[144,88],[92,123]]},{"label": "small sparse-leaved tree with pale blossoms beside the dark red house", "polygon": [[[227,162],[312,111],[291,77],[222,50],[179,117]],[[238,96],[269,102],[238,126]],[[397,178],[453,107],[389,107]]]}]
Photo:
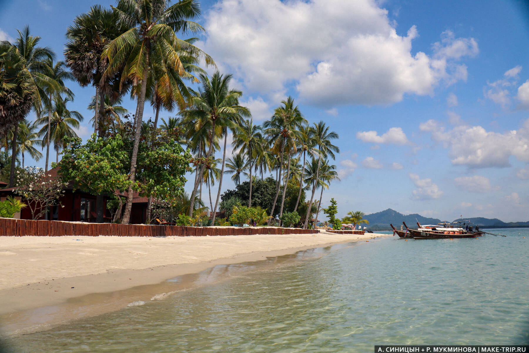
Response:
[{"label": "small sparse-leaved tree with pale blossoms beside the dark red house", "polygon": [[17,171],[17,188],[14,192],[28,201],[33,219],[38,220],[50,206],[60,204],[59,197],[65,192],[63,189],[66,185],[59,178],[52,178],[50,174],[44,173],[42,168],[25,167],[22,171]]}]

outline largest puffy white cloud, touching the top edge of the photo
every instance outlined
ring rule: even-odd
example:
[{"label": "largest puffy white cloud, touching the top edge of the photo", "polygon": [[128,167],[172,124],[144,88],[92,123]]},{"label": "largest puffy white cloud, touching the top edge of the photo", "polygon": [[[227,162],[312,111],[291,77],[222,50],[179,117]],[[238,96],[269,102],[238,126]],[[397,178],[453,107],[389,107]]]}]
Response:
[{"label": "largest puffy white cloud, touching the top edge of the photo", "polygon": [[[330,25],[331,24],[331,25]],[[221,0],[205,16],[204,49],[254,92],[293,85],[309,104],[390,104],[466,80],[477,42],[444,32],[427,55],[418,30],[399,35],[373,0]]]}]

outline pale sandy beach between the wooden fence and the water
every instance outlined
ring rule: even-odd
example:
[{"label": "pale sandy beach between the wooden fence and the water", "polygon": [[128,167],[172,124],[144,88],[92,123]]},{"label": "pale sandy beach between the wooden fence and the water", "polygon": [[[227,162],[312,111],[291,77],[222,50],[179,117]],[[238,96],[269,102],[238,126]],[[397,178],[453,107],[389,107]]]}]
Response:
[{"label": "pale sandy beach between the wooden fence and the water", "polygon": [[[121,310],[132,302],[159,299],[196,287],[193,275],[217,265],[388,236],[322,232],[185,238],[0,237],[0,334],[47,330]],[[168,281],[179,276],[181,283]]]}]

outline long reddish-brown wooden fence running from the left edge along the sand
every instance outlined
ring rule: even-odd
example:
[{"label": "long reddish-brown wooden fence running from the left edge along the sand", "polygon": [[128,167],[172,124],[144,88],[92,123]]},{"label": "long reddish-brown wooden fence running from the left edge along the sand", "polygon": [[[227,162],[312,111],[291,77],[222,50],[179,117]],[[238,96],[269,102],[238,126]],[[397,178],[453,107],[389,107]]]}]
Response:
[{"label": "long reddish-brown wooden fence running from the left edge along the sand", "polygon": [[118,237],[204,237],[242,236],[252,234],[313,234],[318,230],[277,227],[181,227],[179,225],[145,225],[114,223],[81,223],[33,221],[0,218],[0,236],[118,236]]}]

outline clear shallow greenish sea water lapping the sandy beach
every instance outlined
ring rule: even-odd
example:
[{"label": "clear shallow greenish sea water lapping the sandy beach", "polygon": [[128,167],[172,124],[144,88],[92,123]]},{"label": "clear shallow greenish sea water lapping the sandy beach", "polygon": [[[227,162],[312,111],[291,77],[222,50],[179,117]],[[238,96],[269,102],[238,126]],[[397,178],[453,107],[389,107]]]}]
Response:
[{"label": "clear shallow greenish sea water lapping the sandy beach", "polygon": [[7,345],[150,353],[527,344],[529,229],[486,231],[507,237],[378,238],[217,266],[201,274],[206,285]]}]

